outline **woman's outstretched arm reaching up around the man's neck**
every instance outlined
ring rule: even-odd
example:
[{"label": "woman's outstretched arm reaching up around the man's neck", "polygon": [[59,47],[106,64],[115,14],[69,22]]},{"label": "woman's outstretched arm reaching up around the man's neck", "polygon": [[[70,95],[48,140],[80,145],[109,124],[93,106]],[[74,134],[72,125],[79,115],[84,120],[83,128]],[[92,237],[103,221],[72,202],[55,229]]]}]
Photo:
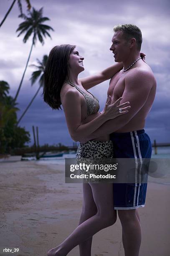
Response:
[{"label": "woman's outstretched arm reaching up around the man's neck", "polygon": [[100,84],[108,79],[111,79],[114,76],[114,74],[119,72],[122,68],[123,68],[122,62],[116,63],[116,64],[112,65],[111,67],[104,69],[100,73],[79,79],[79,82],[81,82],[82,86],[86,90],[88,90],[91,87],[94,87],[96,84]]}]

